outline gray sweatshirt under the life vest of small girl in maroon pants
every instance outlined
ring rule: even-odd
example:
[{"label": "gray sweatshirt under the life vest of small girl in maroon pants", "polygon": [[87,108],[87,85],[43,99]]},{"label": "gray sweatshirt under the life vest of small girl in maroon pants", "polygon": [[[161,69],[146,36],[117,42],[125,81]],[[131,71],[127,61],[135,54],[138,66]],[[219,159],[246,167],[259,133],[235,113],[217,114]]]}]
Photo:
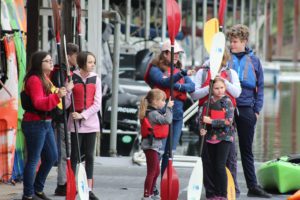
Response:
[{"label": "gray sweatshirt under the life vest of small girl in maroon pants", "polygon": [[[171,124],[172,123],[172,111],[169,107],[166,109],[166,113],[162,114],[159,110],[156,109],[148,109],[147,117],[152,126],[155,124]],[[152,145],[151,145],[152,140]],[[143,150],[152,149],[158,152],[158,150],[162,147],[162,139],[153,139],[147,137],[143,138],[141,142],[141,147]]]}]

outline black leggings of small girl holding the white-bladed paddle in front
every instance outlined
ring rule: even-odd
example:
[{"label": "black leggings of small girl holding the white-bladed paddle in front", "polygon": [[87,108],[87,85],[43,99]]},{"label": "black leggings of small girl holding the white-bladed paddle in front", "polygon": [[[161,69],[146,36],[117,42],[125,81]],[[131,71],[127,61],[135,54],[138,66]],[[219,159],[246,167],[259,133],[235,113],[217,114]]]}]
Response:
[{"label": "black leggings of small girl holding the white-bladed paddle in front", "polygon": [[227,197],[227,175],[226,161],[229,154],[231,143],[221,141],[217,144],[207,143],[209,158],[212,163],[213,183],[215,185],[215,195]]}]

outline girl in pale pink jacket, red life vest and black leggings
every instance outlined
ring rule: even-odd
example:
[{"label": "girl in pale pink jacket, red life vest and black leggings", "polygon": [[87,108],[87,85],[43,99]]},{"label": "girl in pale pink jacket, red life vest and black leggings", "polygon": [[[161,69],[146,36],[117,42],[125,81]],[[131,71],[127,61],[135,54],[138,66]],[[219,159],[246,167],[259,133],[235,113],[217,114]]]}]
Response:
[{"label": "girl in pale pink jacket, red life vest and black leggings", "polygon": [[[78,158],[78,145],[75,134],[74,121],[78,128],[79,148],[81,154],[85,154],[85,170],[89,187],[89,199],[98,200],[92,192],[94,151],[96,132],[100,132],[98,112],[101,109],[102,91],[101,79],[93,72],[96,65],[96,57],[88,51],[79,52],[77,55],[79,70],[72,75],[74,83],[73,96],[75,111],[70,113],[68,128],[71,131],[71,163],[76,171]],[[66,106],[71,105],[71,94],[66,96]]]}]

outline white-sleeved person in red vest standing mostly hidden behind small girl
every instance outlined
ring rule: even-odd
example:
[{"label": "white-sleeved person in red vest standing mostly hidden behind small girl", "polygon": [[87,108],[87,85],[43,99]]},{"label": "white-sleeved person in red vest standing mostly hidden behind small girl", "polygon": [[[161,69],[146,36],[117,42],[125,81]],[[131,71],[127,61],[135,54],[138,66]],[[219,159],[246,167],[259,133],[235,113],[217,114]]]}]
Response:
[{"label": "white-sleeved person in red vest standing mostly hidden behind small girl", "polygon": [[[228,61],[230,60],[230,53],[227,49],[224,51],[223,60],[220,66],[220,69],[218,69],[220,78],[223,78],[226,85],[226,94],[230,97],[231,101],[233,102],[233,105],[236,107],[236,100],[235,98],[239,97],[241,94],[241,85],[239,81],[239,77],[235,70],[230,69],[228,66]],[[207,60],[203,66],[197,71],[195,76],[195,92],[191,94],[192,98],[194,100],[199,100],[199,113],[203,111],[203,105],[204,102],[208,99],[208,93],[209,93],[209,81],[210,81],[210,65],[209,60]],[[201,114],[200,114],[201,115]],[[204,163],[204,177],[203,177],[203,183],[206,190],[206,197],[210,198],[213,195],[214,191],[214,185],[212,184],[212,176],[213,174],[210,174],[210,158],[207,153],[206,144],[204,143],[203,146],[203,152],[202,152],[202,161]],[[239,196],[240,190],[237,183],[237,153],[235,148],[235,142],[232,143],[229,156],[227,159],[226,166],[230,170],[234,182],[235,182],[235,189],[236,189],[236,195]]]}]

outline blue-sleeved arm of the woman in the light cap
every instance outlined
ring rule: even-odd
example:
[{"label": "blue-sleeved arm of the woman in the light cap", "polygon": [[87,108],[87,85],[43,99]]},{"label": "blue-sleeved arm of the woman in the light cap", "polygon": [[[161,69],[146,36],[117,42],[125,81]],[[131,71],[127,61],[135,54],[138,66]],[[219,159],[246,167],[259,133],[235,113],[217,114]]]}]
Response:
[{"label": "blue-sleeved arm of the woman in the light cap", "polygon": [[[184,76],[184,72],[178,72],[173,75],[173,81],[176,83]],[[171,77],[166,77],[164,73],[158,67],[151,67],[150,69],[150,81],[153,85],[159,85],[164,88],[169,88]]]}]

